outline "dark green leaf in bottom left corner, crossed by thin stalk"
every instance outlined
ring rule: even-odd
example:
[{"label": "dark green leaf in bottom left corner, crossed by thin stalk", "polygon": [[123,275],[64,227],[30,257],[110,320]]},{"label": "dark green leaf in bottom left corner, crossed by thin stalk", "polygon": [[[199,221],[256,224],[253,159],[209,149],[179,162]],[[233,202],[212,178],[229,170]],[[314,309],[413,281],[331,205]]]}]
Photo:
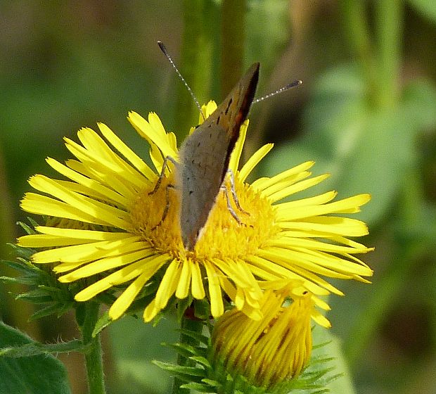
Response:
[{"label": "dark green leaf in bottom left corner, crossed by thin stalk", "polygon": [[[0,322],[0,348],[32,343],[24,333]],[[63,364],[51,355],[0,358],[0,394],[69,394]]]}]

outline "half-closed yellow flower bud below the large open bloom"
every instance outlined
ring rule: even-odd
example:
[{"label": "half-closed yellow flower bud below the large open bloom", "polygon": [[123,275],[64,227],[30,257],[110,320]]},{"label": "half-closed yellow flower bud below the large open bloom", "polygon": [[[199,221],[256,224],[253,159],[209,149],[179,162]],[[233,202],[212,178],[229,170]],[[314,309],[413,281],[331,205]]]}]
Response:
[{"label": "half-closed yellow flower bud below the large open bloom", "polygon": [[[293,302],[283,306],[288,296]],[[298,376],[312,352],[311,315],[330,326],[314,305],[313,295],[295,282],[264,293],[261,320],[234,309],[225,312],[212,333],[214,362],[259,387],[271,388]]]}]

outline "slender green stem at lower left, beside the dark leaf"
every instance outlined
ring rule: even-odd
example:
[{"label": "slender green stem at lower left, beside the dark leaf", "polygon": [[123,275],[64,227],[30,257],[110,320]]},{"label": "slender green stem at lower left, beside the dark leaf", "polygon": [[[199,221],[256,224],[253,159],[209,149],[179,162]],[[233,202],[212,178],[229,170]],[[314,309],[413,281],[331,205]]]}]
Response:
[{"label": "slender green stem at lower left, beside the dark leaf", "polygon": [[85,352],[86,376],[88,379],[89,394],[105,394],[103,360],[101,351],[101,338],[98,334],[93,338],[92,333],[98,320],[98,303],[88,302],[85,305],[82,338],[84,345],[89,345]]}]

